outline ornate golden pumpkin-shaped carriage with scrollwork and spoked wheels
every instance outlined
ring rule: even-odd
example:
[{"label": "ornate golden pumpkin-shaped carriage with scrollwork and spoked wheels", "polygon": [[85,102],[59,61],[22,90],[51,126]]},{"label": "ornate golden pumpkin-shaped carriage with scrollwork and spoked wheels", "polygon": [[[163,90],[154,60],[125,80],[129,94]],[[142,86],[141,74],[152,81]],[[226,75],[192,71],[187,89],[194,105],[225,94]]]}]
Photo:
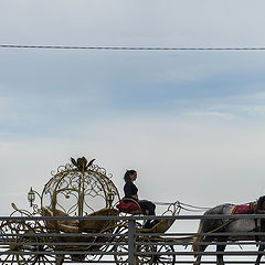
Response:
[{"label": "ornate golden pumpkin-shaped carriage with scrollwork and spoked wheels", "polygon": [[[70,163],[52,172],[41,193],[31,188],[28,200],[32,212],[12,203],[11,219],[0,224],[2,264],[61,265],[67,259],[98,262],[104,258],[104,253],[113,253],[117,265],[127,263],[128,256],[124,253],[128,252],[128,220],[113,216],[142,213],[121,213],[116,208],[123,200],[112,174],[94,160],[71,158]],[[40,204],[35,203],[36,199]],[[178,203],[172,203],[163,214],[177,215],[179,211]],[[57,219],[51,219],[53,216]],[[105,218],[95,221],[93,216]],[[136,223],[137,232],[147,233],[137,236],[137,242],[142,242],[136,245],[138,264],[159,264],[160,261],[174,264],[173,246],[156,245],[165,239],[152,236],[152,233],[165,233],[172,223],[172,220],[160,220],[149,230],[144,229],[142,222]],[[146,244],[149,242],[152,244]],[[146,254],[163,251],[172,254]]]}]

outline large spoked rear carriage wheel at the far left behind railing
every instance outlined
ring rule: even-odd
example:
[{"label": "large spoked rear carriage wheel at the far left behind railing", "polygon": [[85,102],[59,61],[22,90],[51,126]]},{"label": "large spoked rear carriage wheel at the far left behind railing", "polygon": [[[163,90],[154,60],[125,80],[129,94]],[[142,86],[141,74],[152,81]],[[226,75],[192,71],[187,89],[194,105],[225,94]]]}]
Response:
[{"label": "large spoked rear carriage wheel at the far left behind railing", "polygon": [[2,264],[33,265],[36,264],[40,240],[35,231],[24,222],[3,222],[0,227],[0,250]]}]

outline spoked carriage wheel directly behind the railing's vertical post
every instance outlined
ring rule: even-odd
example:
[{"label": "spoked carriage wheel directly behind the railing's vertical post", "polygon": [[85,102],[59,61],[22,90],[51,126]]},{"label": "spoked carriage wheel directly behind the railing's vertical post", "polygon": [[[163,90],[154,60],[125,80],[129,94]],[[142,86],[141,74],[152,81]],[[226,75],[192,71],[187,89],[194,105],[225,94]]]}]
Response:
[{"label": "spoked carriage wheel directly behind the railing's vertical post", "polygon": [[[140,242],[140,241],[138,240],[138,242]],[[149,242],[150,242],[149,239],[145,239],[145,243],[149,243]],[[127,241],[125,240],[125,237],[120,237],[117,243],[118,244],[115,246],[114,252],[118,252],[120,254],[114,255],[116,264],[117,265],[128,264]],[[153,245],[146,245],[146,244],[136,245],[136,252],[144,254],[144,255],[137,254],[136,264],[139,264],[139,265],[153,264],[155,256],[152,254],[148,254],[150,252],[155,252]]]}]

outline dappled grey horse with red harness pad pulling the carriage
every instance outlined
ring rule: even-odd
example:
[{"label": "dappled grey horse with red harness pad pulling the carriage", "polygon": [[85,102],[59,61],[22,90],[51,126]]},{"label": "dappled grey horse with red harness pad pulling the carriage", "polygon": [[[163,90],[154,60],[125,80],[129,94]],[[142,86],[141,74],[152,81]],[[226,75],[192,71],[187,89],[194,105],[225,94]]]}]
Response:
[{"label": "dappled grey horse with red harness pad pulling the carriage", "polygon": [[[250,204],[244,204],[244,205],[235,205],[231,203],[225,203],[221,204],[218,206],[214,206],[206,212],[204,212],[204,216],[206,215],[230,215],[235,213],[234,211],[236,208],[240,206],[245,206],[245,209],[248,209],[247,211],[243,212],[237,212],[237,213],[265,213],[265,197],[261,197],[257,201],[252,202]],[[251,210],[251,211],[250,211]],[[240,241],[240,240],[245,240],[245,241],[256,241],[256,242],[265,242],[264,236],[231,236],[231,235],[220,235],[222,233],[246,233],[246,232],[257,232],[257,231],[265,231],[265,220],[256,220],[256,219],[203,219],[200,221],[200,225],[198,229],[198,236],[193,239],[193,244],[192,248],[193,252],[203,252],[205,248],[209,246],[206,243],[211,243],[213,241],[215,242],[227,242],[227,241]],[[209,235],[200,235],[200,233],[209,233]],[[219,233],[219,235],[214,235],[214,233]],[[204,243],[200,245],[200,243]],[[225,244],[216,244],[216,252],[224,252],[225,250]],[[265,248],[265,245],[259,244],[258,252],[263,252]],[[201,264],[201,254],[194,254],[197,257],[194,265],[200,265]],[[259,265],[261,258],[263,254],[258,254],[255,265]],[[223,261],[223,255],[218,254],[216,255],[216,264],[218,265],[224,265]]]}]

